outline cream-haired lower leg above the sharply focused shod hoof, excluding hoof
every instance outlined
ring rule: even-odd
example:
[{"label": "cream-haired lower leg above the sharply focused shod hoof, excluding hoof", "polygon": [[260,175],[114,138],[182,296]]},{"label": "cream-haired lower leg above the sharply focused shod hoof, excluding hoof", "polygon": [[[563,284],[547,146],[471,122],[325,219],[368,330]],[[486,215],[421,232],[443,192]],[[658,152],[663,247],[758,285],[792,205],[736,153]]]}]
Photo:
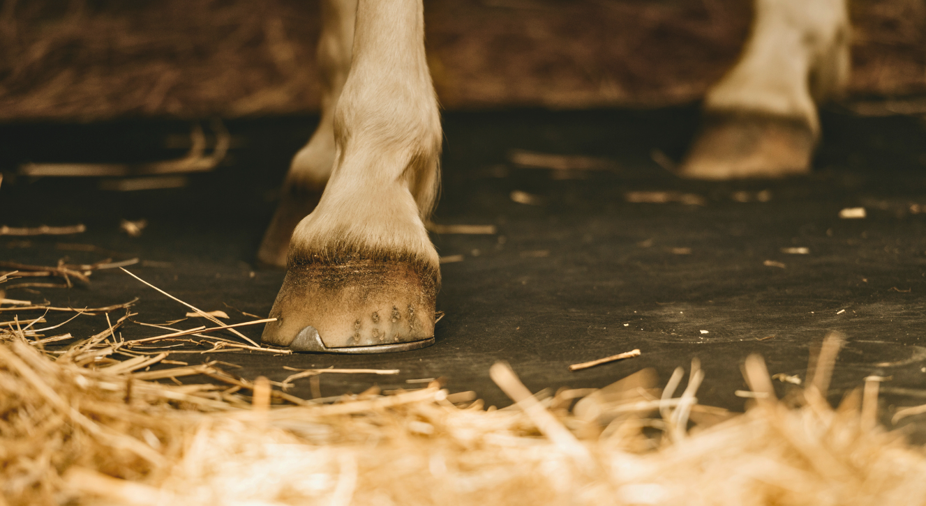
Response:
[{"label": "cream-haired lower leg above the sharply focused shod hoof, excluding hoof", "polygon": [[436,266],[422,220],[437,196],[442,132],[421,2],[360,0],[356,30],[331,179],[295,228],[290,261],[360,253]]}]

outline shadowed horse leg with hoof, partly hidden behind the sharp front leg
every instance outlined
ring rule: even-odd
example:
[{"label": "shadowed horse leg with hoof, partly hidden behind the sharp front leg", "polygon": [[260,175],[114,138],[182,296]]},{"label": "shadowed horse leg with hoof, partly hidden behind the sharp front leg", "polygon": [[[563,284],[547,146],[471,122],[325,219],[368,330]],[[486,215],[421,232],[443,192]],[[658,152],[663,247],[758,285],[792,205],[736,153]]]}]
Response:
[{"label": "shadowed horse leg with hoof, partly hidden behind the sharp front leg", "polygon": [[318,62],[321,84],[319,126],[295,155],[283,182],[281,203],[273,216],[257,259],[286,266],[290,237],[296,224],[319,203],[334,163],[334,106],[337,104],[354,47],[357,0],[322,0]]}]

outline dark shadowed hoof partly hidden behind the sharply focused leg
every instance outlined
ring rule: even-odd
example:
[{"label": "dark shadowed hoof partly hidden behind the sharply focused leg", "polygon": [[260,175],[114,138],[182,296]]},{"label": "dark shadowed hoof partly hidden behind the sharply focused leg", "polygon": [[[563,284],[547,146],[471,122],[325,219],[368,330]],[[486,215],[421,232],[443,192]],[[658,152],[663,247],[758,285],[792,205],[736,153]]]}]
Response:
[{"label": "dark shadowed hoof partly hidden behind the sharply focused leg", "polygon": [[320,191],[296,192],[284,190],[280,204],[273,213],[273,219],[264,240],[257,250],[257,265],[270,268],[286,268],[286,254],[295,226],[308,216],[319,204]]}]

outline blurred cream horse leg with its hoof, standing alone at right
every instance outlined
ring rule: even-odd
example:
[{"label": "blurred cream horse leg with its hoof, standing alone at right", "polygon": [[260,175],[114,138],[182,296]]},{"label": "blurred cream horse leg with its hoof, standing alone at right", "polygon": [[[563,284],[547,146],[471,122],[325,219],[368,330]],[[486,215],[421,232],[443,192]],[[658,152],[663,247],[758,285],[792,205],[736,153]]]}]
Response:
[{"label": "blurred cream horse leg with its hoof, standing alone at right", "polygon": [[849,77],[845,0],[756,0],[737,64],[707,93],[705,125],[682,165],[704,179],[805,173],[820,136],[816,102]]}]

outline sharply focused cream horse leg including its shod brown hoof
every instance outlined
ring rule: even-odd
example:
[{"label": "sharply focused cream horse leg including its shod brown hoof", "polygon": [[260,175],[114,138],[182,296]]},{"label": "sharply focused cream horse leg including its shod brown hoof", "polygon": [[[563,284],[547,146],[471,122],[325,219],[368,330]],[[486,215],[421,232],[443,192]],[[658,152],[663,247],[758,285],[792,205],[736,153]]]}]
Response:
[{"label": "sharply focused cream horse leg including its shod brown hoof", "polygon": [[[421,0],[359,0],[350,72],[333,114],[334,162],[295,228],[263,339],[296,349],[430,339],[440,283],[424,227],[442,131],[424,53]],[[308,327],[310,332],[304,332]]]}]

